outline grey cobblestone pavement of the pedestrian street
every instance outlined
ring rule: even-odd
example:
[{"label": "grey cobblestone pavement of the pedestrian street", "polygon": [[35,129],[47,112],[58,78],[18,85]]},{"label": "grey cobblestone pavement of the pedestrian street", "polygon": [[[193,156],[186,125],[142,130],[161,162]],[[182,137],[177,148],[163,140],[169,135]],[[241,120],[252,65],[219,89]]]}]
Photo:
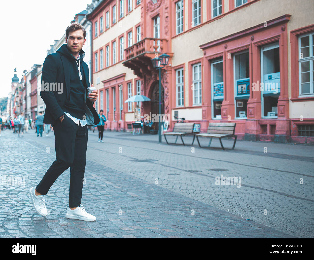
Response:
[{"label": "grey cobblestone pavement of the pedestrian street", "polygon": [[[1,238],[314,237],[313,146],[238,141],[222,151],[214,140],[199,148],[106,131],[98,143],[89,131],[81,204],[97,220],[86,222],[65,218],[69,169],[45,197],[49,215],[35,212],[28,191],[55,160],[54,136],[24,135],[1,132]],[[241,187],[215,185],[221,174]]]}]

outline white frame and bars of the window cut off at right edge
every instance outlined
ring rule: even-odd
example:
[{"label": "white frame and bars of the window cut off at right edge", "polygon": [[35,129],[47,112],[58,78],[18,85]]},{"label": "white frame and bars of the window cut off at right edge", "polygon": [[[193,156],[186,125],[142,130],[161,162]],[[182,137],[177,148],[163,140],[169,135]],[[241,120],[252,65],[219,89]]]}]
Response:
[{"label": "white frame and bars of the window cut off at right edge", "polygon": [[[314,95],[314,83],[313,81],[311,81],[311,79],[313,79],[313,70],[314,70],[314,66],[313,66],[313,60],[314,60],[314,53],[313,53],[313,45],[314,45],[314,42],[313,42],[313,36],[314,33],[310,33],[310,34],[303,34],[303,35],[300,35],[298,38],[298,52],[299,52],[299,97],[308,97],[308,96],[313,96]],[[310,49],[310,52],[309,52],[309,57],[305,57],[305,58],[300,58],[300,54],[301,54],[301,38],[303,37],[306,37],[306,36],[309,36],[310,38],[310,41],[309,41],[309,49]],[[310,62],[310,94],[302,94],[302,88],[301,88],[301,82],[302,82],[302,78],[301,78],[301,63],[304,62],[304,61],[309,61]]]}]

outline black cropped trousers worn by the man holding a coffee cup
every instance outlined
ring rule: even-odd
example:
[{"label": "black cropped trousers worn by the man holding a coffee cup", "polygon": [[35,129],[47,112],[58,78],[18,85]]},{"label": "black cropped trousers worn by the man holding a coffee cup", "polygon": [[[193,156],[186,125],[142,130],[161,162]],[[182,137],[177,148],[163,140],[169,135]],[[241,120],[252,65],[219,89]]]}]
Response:
[{"label": "black cropped trousers worn by the man holding a coffee cup", "polygon": [[51,164],[36,187],[46,195],[56,179],[70,167],[69,207],[81,205],[88,131],[87,125],[78,126],[67,115],[52,125],[55,135],[56,160]]}]

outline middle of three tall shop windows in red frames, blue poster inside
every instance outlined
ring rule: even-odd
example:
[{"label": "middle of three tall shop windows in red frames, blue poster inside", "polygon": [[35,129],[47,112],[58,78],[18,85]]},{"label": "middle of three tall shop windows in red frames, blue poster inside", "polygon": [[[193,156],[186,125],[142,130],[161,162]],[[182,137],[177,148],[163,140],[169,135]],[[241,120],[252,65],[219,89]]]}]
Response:
[{"label": "middle of three tall shop windows in red frames, blue poster inside", "polygon": [[233,56],[235,82],[235,117],[246,118],[247,101],[250,97],[249,53]]}]

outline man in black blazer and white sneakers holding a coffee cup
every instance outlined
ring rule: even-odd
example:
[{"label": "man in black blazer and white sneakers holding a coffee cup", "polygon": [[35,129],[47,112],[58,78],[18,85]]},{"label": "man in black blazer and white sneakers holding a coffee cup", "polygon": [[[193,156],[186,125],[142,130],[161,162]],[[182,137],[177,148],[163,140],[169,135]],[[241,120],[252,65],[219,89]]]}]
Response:
[{"label": "man in black blazer and white sneakers holding a coffee cup", "polygon": [[[81,205],[86,161],[87,126],[99,123],[93,107],[97,91],[87,96],[89,69],[83,61],[86,31],[72,23],[65,31],[66,44],[46,57],[41,74],[41,98],[46,103],[44,123],[51,124],[55,135],[56,160],[40,183],[30,189],[35,210],[47,216],[44,196],[55,180],[70,167],[67,218],[95,221]],[[59,84],[59,86],[58,86]],[[61,88],[60,88],[61,87]],[[93,87],[93,84],[92,84]]]}]

